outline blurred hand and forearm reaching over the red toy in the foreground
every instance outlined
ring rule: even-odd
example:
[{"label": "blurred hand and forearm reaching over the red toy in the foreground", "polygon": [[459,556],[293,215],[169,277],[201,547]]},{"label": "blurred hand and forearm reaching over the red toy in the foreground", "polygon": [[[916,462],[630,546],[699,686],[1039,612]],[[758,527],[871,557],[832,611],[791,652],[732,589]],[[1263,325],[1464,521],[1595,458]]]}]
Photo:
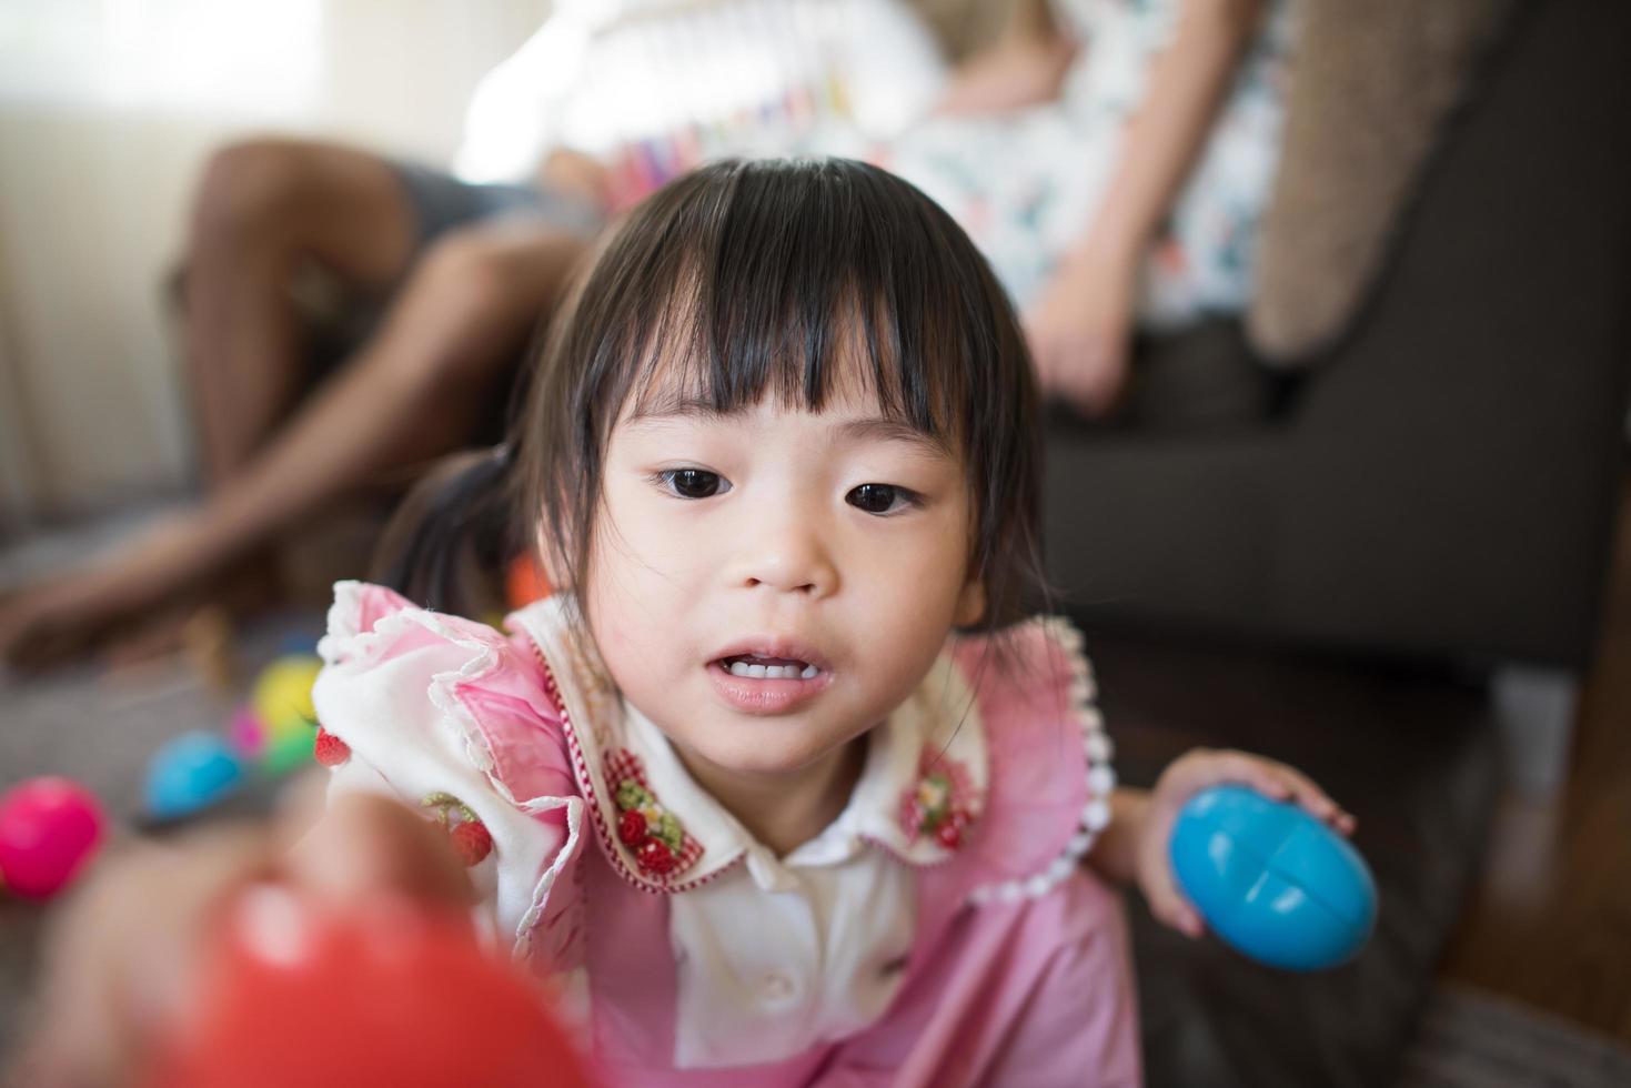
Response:
[{"label": "blurred hand and forearm reaching over the red toy in the foreground", "polygon": [[465,910],[471,900],[447,835],[400,804],[341,799],[320,840],[290,850],[307,824],[290,816],[276,827],[140,843],[98,866],[47,936],[16,1083],[135,1083],[155,1046],[189,1019],[206,956],[225,930],[289,938],[290,910],[269,905],[404,897]]}]

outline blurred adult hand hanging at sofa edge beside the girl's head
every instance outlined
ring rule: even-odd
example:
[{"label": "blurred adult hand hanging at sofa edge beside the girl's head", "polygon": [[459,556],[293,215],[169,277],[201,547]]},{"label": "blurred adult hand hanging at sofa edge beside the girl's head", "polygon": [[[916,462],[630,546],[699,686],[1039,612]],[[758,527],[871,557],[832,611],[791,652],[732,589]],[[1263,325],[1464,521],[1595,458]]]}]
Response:
[{"label": "blurred adult hand hanging at sofa edge beside the girl's head", "polygon": [[1106,414],[1127,383],[1137,263],[1067,256],[1024,315],[1042,391],[1083,414]]}]

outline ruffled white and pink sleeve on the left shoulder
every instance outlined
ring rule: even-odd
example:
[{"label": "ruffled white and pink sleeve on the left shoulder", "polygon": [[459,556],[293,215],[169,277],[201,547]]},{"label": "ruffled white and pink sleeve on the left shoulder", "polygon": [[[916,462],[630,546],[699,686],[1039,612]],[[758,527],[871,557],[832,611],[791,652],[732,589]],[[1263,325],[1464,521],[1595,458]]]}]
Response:
[{"label": "ruffled white and pink sleeve on the left shoulder", "polygon": [[584,803],[533,643],[339,582],[318,654],[318,721],[349,747],[329,798],[393,796],[450,834],[480,820],[478,920],[540,971],[579,966]]}]

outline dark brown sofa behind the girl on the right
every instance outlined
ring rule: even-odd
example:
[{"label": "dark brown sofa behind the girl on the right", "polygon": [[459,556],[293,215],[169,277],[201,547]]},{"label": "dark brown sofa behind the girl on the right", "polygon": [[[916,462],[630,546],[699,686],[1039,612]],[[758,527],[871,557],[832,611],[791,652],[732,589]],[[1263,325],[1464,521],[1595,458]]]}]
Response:
[{"label": "dark brown sofa behind the girl on the right", "polygon": [[[1483,69],[1367,308],[1272,418],[1055,426],[1047,546],[1083,615],[1589,662],[1631,356],[1631,5],[1532,2]],[[1147,364],[1192,385],[1243,352],[1209,326]]]}]

